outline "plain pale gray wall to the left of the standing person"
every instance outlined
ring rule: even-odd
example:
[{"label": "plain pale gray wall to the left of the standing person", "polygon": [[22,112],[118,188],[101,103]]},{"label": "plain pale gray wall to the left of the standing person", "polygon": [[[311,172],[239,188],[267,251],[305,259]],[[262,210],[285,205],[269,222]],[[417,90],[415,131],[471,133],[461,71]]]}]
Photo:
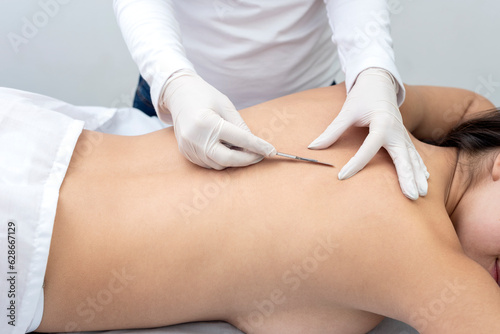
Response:
[{"label": "plain pale gray wall to the left of the standing person", "polygon": [[[0,2],[0,86],[75,104],[130,104],[138,71],[111,0]],[[42,3],[57,3],[59,8],[48,11]],[[23,30],[26,20],[39,27]],[[28,38],[13,48],[12,34]]]}]

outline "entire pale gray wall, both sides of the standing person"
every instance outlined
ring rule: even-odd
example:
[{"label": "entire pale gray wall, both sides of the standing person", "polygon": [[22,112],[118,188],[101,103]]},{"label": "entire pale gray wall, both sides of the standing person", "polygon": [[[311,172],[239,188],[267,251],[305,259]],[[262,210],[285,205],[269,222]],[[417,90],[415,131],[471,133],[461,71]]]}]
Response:
[{"label": "entire pale gray wall, both sides of the standing person", "polygon": [[[475,90],[500,106],[500,1],[389,1],[405,82]],[[75,104],[130,105],[138,71],[111,0],[0,3],[0,86]],[[58,6],[43,5],[50,3]],[[38,27],[26,30],[27,21]],[[17,47],[15,35],[23,38]]]}]

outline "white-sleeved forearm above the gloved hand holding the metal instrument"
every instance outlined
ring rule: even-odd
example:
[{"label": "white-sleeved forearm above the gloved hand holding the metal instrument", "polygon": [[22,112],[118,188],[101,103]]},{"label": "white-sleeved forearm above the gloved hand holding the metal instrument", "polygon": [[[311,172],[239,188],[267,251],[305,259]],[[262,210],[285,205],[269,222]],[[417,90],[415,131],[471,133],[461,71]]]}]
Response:
[{"label": "white-sleeved forearm above the gloved hand holding the metal instrument", "polygon": [[193,69],[181,43],[171,0],[115,0],[116,19],[132,58],[151,86],[155,107],[166,80],[180,69]]}]

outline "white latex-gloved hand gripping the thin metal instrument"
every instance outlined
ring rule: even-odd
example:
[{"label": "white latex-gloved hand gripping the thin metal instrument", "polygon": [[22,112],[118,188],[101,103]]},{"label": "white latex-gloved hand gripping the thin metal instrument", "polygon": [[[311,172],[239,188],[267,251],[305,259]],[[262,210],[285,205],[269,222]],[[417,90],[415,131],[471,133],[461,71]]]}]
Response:
[{"label": "white latex-gloved hand gripping the thin metal instrument", "polygon": [[[170,111],[179,150],[189,161],[220,170],[276,154],[271,144],[250,132],[225,95],[192,71],[175,75],[164,88],[160,106]],[[160,112],[161,119],[169,116]],[[229,149],[221,141],[242,150]]]}]

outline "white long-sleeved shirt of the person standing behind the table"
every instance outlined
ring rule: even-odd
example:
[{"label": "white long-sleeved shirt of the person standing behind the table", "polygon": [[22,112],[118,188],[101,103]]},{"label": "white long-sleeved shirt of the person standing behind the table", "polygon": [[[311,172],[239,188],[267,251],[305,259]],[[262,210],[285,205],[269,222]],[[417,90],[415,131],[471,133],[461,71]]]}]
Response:
[{"label": "white long-sleeved shirt of the person standing behind the table", "polygon": [[115,0],[114,7],[155,107],[167,79],[185,68],[237,109],[331,85],[337,58],[348,90],[368,67],[385,68],[402,87],[385,0]]}]

